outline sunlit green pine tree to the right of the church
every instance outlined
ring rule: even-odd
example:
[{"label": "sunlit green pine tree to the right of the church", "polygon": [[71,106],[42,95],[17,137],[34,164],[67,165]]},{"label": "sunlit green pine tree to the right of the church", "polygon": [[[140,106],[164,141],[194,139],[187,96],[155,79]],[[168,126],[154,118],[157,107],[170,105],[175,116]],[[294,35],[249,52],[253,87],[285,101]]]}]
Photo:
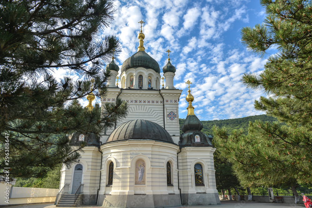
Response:
[{"label": "sunlit green pine tree to the right of the church", "polygon": [[312,181],[312,5],[303,0],[261,0],[261,5],[266,8],[264,23],[243,28],[242,42],[261,56],[271,48],[278,52],[269,56],[261,74],[245,74],[242,82],[268,95],[255,101],[256,109],[287,125],[257,121],[250,124],[248,136],[217,128],[215,133],[229,142],[225,152],[234,151],[228,159],[241,181],[288,184],[297,203],[298,183]]}]

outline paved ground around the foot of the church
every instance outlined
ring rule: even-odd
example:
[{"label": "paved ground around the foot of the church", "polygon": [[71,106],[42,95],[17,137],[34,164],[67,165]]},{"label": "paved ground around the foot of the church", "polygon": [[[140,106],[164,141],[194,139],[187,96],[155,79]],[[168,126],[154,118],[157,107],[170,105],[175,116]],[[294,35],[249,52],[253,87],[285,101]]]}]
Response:
[{"label": "paved ground around the foot of the church", "polygon": [[[9,208],[55,208],[54,203],[47,204],[32,204],[32,205],[19,205],[19,206],[10,206]],[[79,207],[89,207],[89,208],[98,208],[100,206],[88,205],[88,206],[79,206]],[[221,205],[213,206],[182,206],[179,208],[301,208],[305,207],[304,205],[295,205],[295,204],[273,204],[273,203],[261,203],[254,201],[229,201],[222,200]],[[177,207],[178,208],[178,207]]]}]

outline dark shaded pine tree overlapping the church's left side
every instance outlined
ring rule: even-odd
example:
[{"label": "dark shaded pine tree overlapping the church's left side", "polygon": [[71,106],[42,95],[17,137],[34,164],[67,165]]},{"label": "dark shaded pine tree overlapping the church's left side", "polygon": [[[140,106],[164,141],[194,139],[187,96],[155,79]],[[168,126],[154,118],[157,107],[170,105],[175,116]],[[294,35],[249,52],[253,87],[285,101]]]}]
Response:
[{"label": "dark shaded pine tree overlapping the church's left side", "polygon": [[[120,99],[93,111],[77,100],[107,91],[103,66],[120,46],[100,31],[114,12],[109,0],[1,1],[0,169],[10,167],[10,177],[44,177],[58,164],[71,166],[85,144],[72,148],[69,135],[100,135],[126,116]],[[60,68],[80,79],[58,81],[51,72]]]}]

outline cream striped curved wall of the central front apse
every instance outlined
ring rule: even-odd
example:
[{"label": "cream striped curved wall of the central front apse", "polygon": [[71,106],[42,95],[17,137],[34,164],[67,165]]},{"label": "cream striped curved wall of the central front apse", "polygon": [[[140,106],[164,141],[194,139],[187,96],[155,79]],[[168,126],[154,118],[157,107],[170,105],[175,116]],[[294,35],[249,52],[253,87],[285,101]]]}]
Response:
[{"label": "cream striped curved wall of the central front apse", "polygon": [[[102,145],[103,168],[99,194],[178,194],[178,149],[175,144],[154,140],[127,140]],[[134,184],[137,171],[135,162],[138,159],[146,163],[145,185]],[[167,186],[168,161],[172,164],[173,186]],[[112,186],[106,186],[110,162],[114,163],[114,179]]]}]

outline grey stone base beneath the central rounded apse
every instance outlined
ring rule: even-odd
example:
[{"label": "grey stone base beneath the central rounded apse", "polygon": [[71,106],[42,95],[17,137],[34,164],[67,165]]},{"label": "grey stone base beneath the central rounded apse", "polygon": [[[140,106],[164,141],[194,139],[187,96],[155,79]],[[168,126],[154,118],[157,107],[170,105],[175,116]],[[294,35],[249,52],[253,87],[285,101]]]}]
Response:
[{"label": "grey stone base beneath the central rounded apse", "polygon": [[179,194],[100,195],[98,204],[103,207],[157,208],[181,206]]}]

